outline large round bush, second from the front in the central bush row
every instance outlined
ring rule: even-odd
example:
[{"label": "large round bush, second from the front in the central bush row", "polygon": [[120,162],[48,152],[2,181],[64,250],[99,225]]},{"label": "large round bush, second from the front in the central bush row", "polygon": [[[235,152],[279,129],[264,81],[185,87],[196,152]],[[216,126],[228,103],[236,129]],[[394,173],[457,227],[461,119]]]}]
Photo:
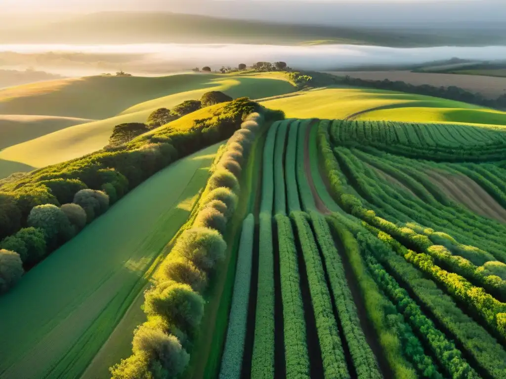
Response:
[{"label": "large round bush, second from the front in the central bush row", "polygon": [[144,311],[162,315],[169,324],[194,334],[204,313],[204,299],[189,285],[167,280],[146,291]]}]

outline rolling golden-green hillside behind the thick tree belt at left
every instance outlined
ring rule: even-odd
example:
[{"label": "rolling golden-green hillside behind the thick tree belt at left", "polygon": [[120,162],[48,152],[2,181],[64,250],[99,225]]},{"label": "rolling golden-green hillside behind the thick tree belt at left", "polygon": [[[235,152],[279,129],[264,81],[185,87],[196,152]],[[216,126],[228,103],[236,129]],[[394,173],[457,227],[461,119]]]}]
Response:
[{"label": "rolling golden-green hillside behind the thick tree belt at left", "polygon": [[[0,177],[100,150],[108,144],[114,125],[145,122],[155,109],[171,108],[185,100],[199,99],[209,90],[220,90],[233,98],[251,99],[294,90],[294,86],[282,76],[269,74],[187,74],[159,78],[94,76],[79,80],[65,79],[59,81],[58,85],[48,83],[28,85],[30,90],[25,86],[10,88],[10,94],[4,94],[4,102],[0,91],[0,113],[31,112],[38,115],[107,118],[81,123],[37,138],[34,135],[27,137],[29,140],[24,143],[4,146],[0,151]],[[35,86],[36,89],[30,86]],[[14,140],[15,136],[10,134],[9,138]]]}]

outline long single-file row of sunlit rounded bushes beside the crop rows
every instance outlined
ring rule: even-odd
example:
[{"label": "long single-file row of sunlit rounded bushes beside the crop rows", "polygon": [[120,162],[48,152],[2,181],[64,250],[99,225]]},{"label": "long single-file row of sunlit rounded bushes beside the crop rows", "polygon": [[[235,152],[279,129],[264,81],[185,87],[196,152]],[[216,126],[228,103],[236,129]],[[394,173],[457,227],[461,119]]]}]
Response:
[{"label": "long single-file row of sunlit rounded bushes beside the crop rows", "polygon": [[148,321],[134,333],[133,355],[111,367],[113,379],[162,379],[185,369],[204,312],[202,294],[225,256],[223,233],[237,205],[238,177],[227,167],[240,174],[262,122],[260,114],[250,115],[229,139],[204,189],[193,225],[179,236],[162,262],[161,280],[145,294]]}]

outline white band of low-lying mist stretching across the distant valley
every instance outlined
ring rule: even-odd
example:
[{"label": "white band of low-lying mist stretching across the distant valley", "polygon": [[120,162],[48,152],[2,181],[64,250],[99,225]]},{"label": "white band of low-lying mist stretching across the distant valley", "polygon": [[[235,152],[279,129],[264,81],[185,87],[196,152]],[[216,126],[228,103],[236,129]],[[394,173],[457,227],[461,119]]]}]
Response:
[{"label": "white band of low-lying mist stretching across the distant valley", "polygon": [[0,64],[10,69],[34,69],[65,76],[96,75],[119,70],[134,75],[163,75],[193,67],[237,67],[239,63],[285,61],[309,70],[353,69],[358,66],[421,64],[452,57],[504,60],[506,46],[387,48],[328,44],[280,46],[251,44],[19,44],[0,45]]}]

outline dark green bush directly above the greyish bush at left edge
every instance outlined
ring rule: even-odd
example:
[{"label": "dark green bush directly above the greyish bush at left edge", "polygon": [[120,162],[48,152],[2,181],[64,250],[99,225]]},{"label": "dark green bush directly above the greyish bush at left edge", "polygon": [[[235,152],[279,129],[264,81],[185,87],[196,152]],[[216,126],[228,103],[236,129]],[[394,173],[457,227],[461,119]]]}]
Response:
[{"label": "dark green bush directly above the greyish bush at left edge", "polygon": [[34,264],[46,254],[46,235],[39,228],[23,228],[2,241],[0,247],[18,253],[25,264]]}]

